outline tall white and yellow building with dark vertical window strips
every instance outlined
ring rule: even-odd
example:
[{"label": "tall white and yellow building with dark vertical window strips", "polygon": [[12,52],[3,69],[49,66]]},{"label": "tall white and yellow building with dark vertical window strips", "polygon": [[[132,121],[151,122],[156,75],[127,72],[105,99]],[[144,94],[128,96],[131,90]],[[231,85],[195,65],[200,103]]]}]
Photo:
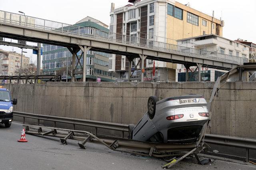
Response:
[{"label": "tall white and yellow building with dark vertical window strips", "polygon": [[[206,15],[189,4],[183,5],[175,0],[129,0],[129,4],[115,8],[111,4],[110,32],[136,38],[177,44],[176,40],[204,34],[222,36],[224,22]],[[127,41],[127,40],[126,40]],[[138,59],[135,59],[135,64]],[[152,77],[154,62],[144,61],[145,81],[175,81],[176,64],[155,61],[156,75]],[[119,79],[128,78],[129,62],[126,56],[112,55],[109,71]],[[132,76],[138,76],[135,72]]]}]

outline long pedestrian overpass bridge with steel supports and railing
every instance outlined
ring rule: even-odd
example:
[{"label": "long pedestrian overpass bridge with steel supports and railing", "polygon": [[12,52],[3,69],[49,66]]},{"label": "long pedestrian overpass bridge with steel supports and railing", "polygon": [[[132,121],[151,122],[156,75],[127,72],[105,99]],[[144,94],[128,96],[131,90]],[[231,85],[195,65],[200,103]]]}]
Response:
[{"label": "long pedestrian overpass bridge with steel supports and railing", "polygon": [[[248,62],[248,59],[242,57],[224,55],[212,51],[204,51],[202,53],[199,49],[134,38],[1,10],[0,36],[67,47],[72,53],[72,63],[76,63],[76,58],[78,59],[77,64],[72,65],[73,78],[77,65],[79,64],[82,67],[80,63],[81,57],[79,58],[76,55],[79,50],[82,50],[82,55],[85,58],[88,50],[125,55],[130,62],[129,75],[132,75],[131,65],[134,58],[140,58],[140,61],[153,59],[184,64],[187,71],[191,66],[198,66],[199,71],[202,66],[230,70],[236,65]],[[83,65],[86,65],[86,60],[83,61]],[[141,62],[140,69],[143,68],[144,62]],[[85,75],[86,69],[83,69],[83,81],[85,81]],[[143,74],[141,75],[141,80],[143,81]]]}]

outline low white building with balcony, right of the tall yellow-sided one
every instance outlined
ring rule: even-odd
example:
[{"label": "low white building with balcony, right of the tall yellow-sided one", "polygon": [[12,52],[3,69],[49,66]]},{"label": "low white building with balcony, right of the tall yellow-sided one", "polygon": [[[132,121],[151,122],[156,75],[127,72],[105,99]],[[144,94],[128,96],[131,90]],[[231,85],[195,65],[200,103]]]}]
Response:
[{"label": "low white building with balcony, right of the tall yellow-sided one", "polygon": [[[178,45],[199,50],[200,55],[248,62],[250,46],[241,42],[229,40],[215,34],[185,38],[177,41]],[[184,49],[186,50],[186,49]],[[196,67],[191,67],[192,71]],[[198,71],[196,71],[198,74]],[[227,71],[202,67],[201,81],[216,81],[219,76]],[[197,81],[197,74],[189,71],[189,81]],[[177,64],[176,81],[186,81],[186,68]]]}]

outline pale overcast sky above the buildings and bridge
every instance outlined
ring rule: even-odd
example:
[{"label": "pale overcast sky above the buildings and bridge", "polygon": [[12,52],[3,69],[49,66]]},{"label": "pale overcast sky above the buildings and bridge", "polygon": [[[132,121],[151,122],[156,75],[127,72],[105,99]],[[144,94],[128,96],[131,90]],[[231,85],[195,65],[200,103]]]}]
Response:
[{"label": "pale overcast sky above the buildings and bridge", "polygon": [[[256,43],[256,0],[177,0],[182,4],[190,2],[191,8],[225,21],[223,36],[236,40],[241,38]],[[0,0],[0,10],[27,16],[43,18],[67,24],[75,24],[86,16],[98,19],[109,25],[111,2],[116,7],[127,4],[128,0]],[[0,45],[0,49],[12,51],[12,47]],[[14,47],[14,51],[21,49]],[[32,50],[26,49],[30,57]],[[36,55],[32,55],[33,60]]]}]

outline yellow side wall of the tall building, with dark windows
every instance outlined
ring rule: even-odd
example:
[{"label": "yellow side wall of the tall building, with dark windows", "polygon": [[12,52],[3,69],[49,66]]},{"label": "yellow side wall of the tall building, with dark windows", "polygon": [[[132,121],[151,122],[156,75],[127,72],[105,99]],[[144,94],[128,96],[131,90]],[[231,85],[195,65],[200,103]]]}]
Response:
[{"label": "yellow side wall of the tall building, with dark windows", "polygon": [[[182,16],[179,15],[182,10]],[[223,21],[199,12],[189,6],[175,2],[167,4],[167,43],[176,44],[176,40],[216,34],[222,36]],[[171,40],[170,40],[171,39]]]}]

